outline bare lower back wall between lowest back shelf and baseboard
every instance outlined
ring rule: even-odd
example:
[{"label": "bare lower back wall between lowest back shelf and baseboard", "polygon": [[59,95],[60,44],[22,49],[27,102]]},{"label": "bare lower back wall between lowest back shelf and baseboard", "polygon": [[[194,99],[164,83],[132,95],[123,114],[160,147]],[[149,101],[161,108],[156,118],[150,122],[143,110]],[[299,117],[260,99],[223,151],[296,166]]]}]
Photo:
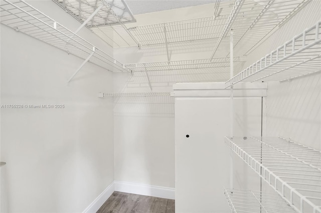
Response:
[{"label": "bare lower back wall between lowest back shelf and baseboard", "polygon": [[174,131],[173,97],[114,97],[115,180],[175,187]]}]

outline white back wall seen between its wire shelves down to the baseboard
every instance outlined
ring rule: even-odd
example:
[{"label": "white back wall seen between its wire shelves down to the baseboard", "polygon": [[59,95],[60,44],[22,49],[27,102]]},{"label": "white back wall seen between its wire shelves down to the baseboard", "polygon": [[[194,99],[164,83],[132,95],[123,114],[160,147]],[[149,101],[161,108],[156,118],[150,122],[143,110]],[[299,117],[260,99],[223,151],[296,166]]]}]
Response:
[{"label": "white back wall seen between its wire shelves down to the baseboard", "polygon": [[[136,15],[137,22],[128,26],[212,16],[206,5]],[[169,44],[171,60],[208,58],[215,42]],[[166,61],[166,45],[115,48],[114,56],[123,63]],[[225,73],[200,73],[165,70],[148,72],[152,91],[172,91],[175,82],[224,81]],[[150,91],[144,72],[114,74],[114,92]],[[115,180],[175,187],[175,120],[174,98],[115,97],[114,142]]]}]

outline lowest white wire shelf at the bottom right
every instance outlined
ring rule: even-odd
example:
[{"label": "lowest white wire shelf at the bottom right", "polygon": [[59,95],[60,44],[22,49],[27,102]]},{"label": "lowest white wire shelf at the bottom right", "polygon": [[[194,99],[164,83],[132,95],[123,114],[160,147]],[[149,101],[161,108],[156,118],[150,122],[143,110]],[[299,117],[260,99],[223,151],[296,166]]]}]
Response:
[{"label": "lowest white wire shelf at the bottom right", "polygon": [[232,213],[262,212],[262,213],[296,213],[276,192],[264,192],[244,189],[224,189],[224,194],[231,207]]}]

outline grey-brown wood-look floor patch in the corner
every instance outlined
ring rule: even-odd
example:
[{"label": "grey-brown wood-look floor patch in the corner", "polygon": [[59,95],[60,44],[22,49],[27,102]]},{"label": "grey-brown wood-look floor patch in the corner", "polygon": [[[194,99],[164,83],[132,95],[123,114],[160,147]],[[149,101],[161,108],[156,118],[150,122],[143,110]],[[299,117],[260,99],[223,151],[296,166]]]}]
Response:
[{"label": "grey-brown wood-look floor patch in the corner", "polygon": [[175,200],[114,191],[97,213],[174,213]]}]

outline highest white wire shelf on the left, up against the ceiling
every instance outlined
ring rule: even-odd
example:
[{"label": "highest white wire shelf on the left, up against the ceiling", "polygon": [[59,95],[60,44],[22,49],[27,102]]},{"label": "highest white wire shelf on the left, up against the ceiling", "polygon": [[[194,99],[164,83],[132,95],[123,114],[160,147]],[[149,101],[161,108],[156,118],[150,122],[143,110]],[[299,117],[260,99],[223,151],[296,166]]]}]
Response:
[{"label": "highest white wire shelf on the left, up against the ceiling", "polygon": [[[124,0],[53,0],[113,47],[138,45],[124,23],[136,22]],[[96,13],[94,11],[97,10]]]}]

